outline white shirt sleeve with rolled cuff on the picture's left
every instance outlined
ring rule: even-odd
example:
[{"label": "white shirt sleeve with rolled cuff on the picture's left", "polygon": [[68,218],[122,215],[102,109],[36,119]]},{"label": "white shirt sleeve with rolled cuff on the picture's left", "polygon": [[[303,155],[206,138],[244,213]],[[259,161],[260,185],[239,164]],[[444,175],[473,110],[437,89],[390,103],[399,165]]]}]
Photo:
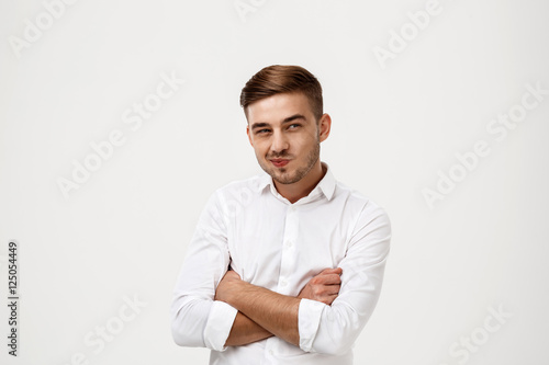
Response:
[{"label": "white shirt sleeve with rolled cuff on the picture's left", "polygon": [[181,346],[223,351],[236,309],[215,301],[231,260],[217,196],[203,209],[173,289],[171,331]]}]

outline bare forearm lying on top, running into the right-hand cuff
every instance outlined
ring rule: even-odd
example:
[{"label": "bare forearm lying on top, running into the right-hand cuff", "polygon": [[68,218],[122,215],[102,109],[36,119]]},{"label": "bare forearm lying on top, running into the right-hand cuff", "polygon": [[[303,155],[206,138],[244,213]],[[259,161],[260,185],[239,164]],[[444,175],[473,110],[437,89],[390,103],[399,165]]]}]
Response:
[{"label": "bare forearm lying on top, running into the right-hand cuff", "polygon": [[299,298],[281,295],[245,282],[226,301],[267,332],[299,346]]}]

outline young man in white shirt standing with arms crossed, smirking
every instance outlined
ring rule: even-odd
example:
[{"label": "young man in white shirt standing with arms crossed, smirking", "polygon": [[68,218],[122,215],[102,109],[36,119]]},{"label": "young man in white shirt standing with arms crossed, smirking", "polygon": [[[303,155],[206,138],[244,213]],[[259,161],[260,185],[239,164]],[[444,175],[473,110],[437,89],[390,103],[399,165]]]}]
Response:
[{"label": "young man in white shirt standing with arms crossed, smirking", "polygon": [[208,202],[175,288],[173,339],[211,349],[210,364],[352,364],[381,290],[389,218],[321,161],[332,119],[307,70],[264,68],[240,105],[266,173]]}]

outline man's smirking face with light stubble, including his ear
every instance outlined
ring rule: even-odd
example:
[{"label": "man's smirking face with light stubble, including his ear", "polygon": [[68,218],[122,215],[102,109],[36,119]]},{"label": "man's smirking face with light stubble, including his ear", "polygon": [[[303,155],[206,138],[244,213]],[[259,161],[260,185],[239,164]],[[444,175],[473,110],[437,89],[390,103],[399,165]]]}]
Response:
[{"label": "man's smirking face with light stubble, including his ear", "polygon": [[329,134],[329,116],[317,123],[302,93],[276,94],[247,109],[247,134],[259,166],[281,184],[302,180],[320,164],[321,141]]}]

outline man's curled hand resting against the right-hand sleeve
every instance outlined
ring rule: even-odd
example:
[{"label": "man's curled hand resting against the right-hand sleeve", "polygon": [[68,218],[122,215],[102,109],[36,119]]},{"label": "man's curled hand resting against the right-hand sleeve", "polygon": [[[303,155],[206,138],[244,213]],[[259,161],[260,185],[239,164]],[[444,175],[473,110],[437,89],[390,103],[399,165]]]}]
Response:
[{"label": "man's curled hand resting against the right-hand sleeve", "polygon": [[301,289],[298,298],[322,301],[326,305],[337,298],[341,287],[341,267],[325,269]]}]

